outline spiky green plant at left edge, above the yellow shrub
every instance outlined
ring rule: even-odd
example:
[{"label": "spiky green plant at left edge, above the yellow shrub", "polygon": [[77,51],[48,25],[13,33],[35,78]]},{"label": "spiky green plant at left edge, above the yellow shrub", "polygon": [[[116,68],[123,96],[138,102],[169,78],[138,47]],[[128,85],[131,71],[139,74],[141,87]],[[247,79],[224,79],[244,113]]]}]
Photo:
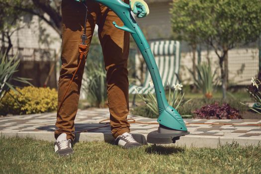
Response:
[{"label": "spiky green plant at left edge, above the yellow shrub", "polygon": [[18,81],[31,85],[28,82],[30,79],[21,77],[13,78],[13,74],[18,71],[19,63],[20,60],[17,59],[17,54],[11,58],[7,58],[6,53],[0,54],[0,100],[9,89],[16,91],[15,87],[11,84],[11,81]]}]

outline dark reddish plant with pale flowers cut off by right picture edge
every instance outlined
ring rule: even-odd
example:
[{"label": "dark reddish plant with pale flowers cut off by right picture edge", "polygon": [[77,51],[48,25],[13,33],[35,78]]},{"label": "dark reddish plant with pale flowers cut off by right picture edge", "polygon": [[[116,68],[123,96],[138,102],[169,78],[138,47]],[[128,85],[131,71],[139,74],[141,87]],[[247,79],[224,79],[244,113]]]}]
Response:
[{"label": "dark reddish plant with pale flowers cut off by right picture edge", "polygon": [[248,91],[256,101],[255,106],[251,109],[261,113],[261,71],[256,79],[252,78],[251,83],[252,85],[248,87]]}]

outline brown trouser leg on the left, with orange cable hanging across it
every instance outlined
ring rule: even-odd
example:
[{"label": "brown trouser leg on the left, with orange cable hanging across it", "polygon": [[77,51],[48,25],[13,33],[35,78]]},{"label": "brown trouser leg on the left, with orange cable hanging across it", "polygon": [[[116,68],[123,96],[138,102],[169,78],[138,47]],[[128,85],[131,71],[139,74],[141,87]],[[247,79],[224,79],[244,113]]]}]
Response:
[{"label": "brown trouser leg on the left, with orange cable hanging across it", "polygon": [[[96,22],[96,13],[99,11],[99,4],[87,1],[88,20],[87,20],[87,45],[89,46]],[[62,1],[62,67],[59,78],[58,87],[58,108],[61,105],[62,98],[72,79],[74,72],[79,63],[79,48],[81,43],[81,35],[83,35],[83,27],[85,23],[86,8],[82,3],[74,0]],[[67,134],[67,139],[74,140],[75,131],[74,120],[78,110],[78,102],[80,96],[80,88],[84,72],[85,61],[82,61],[78,73],[69,88],[65,100],[63,101],[59,113],[57,113],[57,121],[55,138],[62,134]]]}]

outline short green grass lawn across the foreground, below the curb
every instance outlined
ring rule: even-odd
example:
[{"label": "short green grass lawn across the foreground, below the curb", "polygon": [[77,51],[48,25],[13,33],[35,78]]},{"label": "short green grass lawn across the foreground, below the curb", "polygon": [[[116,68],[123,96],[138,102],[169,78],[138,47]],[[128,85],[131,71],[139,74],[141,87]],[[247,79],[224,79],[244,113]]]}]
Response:
[{"label": "short green grass lawn across the foreground, below the curb", "polygon": [[0,173],[260,174],[261,146],[226,145],[218,149],[143,146],[125,150],[103,143],[77,143],[75,154],[60,158],[53,143],[0,139]]}]

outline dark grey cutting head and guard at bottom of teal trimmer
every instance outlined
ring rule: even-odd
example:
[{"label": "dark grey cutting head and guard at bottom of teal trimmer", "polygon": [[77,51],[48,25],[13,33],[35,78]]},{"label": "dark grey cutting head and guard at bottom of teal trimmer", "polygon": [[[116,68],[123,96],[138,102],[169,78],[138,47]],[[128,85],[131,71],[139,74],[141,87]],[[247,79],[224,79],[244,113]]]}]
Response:
[{"label": "dark grey cutting head and guard at bottom of teal trimmer", "polygon": [[148,134],[147,142],[151,144],[171,144],[179,140],[179,137],[187,134],[189,134],[188,131],[175,130],[160,124],[158,130]]}]

